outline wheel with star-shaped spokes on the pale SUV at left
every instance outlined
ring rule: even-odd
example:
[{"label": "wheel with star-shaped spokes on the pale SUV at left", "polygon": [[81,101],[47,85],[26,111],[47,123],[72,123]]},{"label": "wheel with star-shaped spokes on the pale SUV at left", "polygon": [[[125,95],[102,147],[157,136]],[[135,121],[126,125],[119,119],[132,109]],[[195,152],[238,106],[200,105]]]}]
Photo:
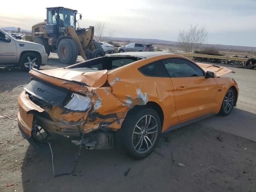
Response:
[{"label": "wheel with star-shaped spokes on the pale SUV at left", "polygon": [[36,68],[36,69],[39,69],[40,66],[41,66],[41,63],[42,63],[42,59],[40,56],[38,56],[37,54],[35,53],[25,53],[25,54],[22,54],[22,56],[20,57],[20,62],[19,62],[19,65],[20,65],[20,68],[23,70],[23,71],[30,71],[29,69],[29,64],[28,64],[28,57],[30,58],[30,60],[34,60],[36,58],[36,60],[34,61],[34,64],[36,64],[37,66],[32,66],[33,68]]}]

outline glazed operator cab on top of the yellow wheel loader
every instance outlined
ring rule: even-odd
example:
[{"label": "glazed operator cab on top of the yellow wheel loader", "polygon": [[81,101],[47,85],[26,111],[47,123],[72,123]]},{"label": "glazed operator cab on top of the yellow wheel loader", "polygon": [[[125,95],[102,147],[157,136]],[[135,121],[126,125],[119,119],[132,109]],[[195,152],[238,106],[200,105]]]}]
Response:
[{"label": "glazed operator cab on top of the yellow wheel loader", "polygon": [[46,31],[49,37],[58,38],[65,34],[65,27],[76,29],[76,10],[64,7],[47,9]]}]

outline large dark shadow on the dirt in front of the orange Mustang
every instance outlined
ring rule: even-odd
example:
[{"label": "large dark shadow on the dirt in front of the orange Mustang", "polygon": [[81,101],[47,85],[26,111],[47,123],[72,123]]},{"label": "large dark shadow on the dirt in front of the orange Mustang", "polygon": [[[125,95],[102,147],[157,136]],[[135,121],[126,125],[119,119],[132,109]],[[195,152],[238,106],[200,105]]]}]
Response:
[{"label": "large dark shadow on the dirt in front of the orange Mustang", "polygon": [[[74,173],[55,178],[51,154],[37,154],[29,146],[22,162],[23,190],[250,191],[256,187],[256,143],[212,129],[210,124],[220,118],[228,124],[237,115],[245,119],[256,119],[256,114],[240,109],[235,109],[230,119],[212,116],[205,122],[163,134],[154,152],[143,160],[128,158],[116,149],[82,148]],[[238,120],[236,126],[242,129],[245,125]],[[55,173],[71,172],[78,146],[70,142],[52,142],[52,149]],[[178,163],[186,167],[178,166]],[[205,168],[209,169],[192,175]]]}]

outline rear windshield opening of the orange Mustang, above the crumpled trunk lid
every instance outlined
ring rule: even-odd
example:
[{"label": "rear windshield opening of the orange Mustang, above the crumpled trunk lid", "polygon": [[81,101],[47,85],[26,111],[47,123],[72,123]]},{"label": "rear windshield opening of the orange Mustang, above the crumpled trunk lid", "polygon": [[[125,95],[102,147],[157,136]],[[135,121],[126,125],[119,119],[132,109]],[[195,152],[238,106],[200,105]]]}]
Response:
[{"label": "rear windshield opening of the orange Mustang, above the crumpled trunk lid", "polygon": [[88,60],[83,63],[67,67],[66,69],[79,71],[112,70],[140,59],[141,58],[136,56],[105,56]]}]

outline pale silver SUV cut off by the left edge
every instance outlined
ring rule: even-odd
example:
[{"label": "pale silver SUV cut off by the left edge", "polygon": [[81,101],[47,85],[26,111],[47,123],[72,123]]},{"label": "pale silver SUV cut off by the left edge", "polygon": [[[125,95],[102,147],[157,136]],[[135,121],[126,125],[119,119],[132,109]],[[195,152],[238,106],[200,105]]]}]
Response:
[{"label": "pale silver SUV cut off by the left edge", "polygon": [[14,39],[0,29],[0,66],[16,66],[24,71],[31,67],[39,69],[47,62],[44,46]]}]

